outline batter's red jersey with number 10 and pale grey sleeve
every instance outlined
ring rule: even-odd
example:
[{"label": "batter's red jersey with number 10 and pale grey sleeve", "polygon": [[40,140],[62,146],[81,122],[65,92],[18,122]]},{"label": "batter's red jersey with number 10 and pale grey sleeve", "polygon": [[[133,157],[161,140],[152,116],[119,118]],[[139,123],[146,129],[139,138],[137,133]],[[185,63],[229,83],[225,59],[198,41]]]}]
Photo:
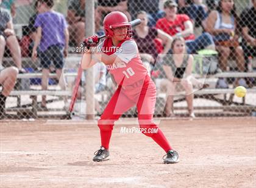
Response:
[{"label": "batter's red jersey with number 10 and pale grey sleeve", "polygon": [[[103,47],[111,47],[112,42],[105,39]],[[133,39],[121,42],[115,52],[116,56],[121,59],[120,62],[114,62],[107,65],[107,70],[113,75],[115,81],[121,86],[130,86],[135,82],[142,82],[148,75],[148,71],[143,65],[138,52],[138,47]],[[108,55],[112,53],[107,53]]]}]

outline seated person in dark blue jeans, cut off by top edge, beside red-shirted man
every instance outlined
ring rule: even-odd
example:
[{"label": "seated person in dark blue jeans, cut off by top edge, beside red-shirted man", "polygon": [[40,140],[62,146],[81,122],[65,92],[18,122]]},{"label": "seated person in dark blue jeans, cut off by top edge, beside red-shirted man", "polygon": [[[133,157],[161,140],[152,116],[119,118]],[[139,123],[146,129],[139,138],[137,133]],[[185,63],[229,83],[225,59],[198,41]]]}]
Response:
[{"label": "seated person in dark blue jeans, cut off by top edge, beside red-shirted man", "polygon": [[206,6],[195,2],[200,3],[198,0],[178,0],[178,13],[188,15],[193,20],[194,27],[200,27],[202,21],[207,18],[207,11],[205,10]]}]

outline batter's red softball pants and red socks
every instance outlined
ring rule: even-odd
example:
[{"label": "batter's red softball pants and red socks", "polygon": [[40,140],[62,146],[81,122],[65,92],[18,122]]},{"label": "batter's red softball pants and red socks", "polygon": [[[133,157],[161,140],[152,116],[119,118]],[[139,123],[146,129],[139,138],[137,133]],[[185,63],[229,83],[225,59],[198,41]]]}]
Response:
[{"label": "batter's red softball pants and red socks", "polygon": [[169,146],[163,132],[157,127],[153,120],[155,99],[155,84],[148,75],[139,87],[119,86],[98,121],[101,132],[101,146],[108,149],[115,121],[118,120],[124,112],[136,105],[140,128],[146,128],[147,130],[149,130],[149,128],[158,129],[156,133],[143,132],[144,135],[154,139],[165,152],[171,150],[171,146]]}]

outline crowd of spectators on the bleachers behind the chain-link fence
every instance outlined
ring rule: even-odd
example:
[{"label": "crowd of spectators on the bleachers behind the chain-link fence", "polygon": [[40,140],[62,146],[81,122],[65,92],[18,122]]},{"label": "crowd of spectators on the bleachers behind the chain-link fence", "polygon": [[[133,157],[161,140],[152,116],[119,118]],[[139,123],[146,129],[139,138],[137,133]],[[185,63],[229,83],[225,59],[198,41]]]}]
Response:
[{"label": "crowd of spectators on the bleachers behind the chain-link fence", "polygon": [[[19,73],[41,72],[41,80],[34,84],[41,84],[43,90],[51,84],[49,73],[56,73],[57,82],[60,80],[65,58],[76,54],[72,47],[79,47],[85,38],[85,22],[90,19],[85,18],[85,1],[93,0],[0,0],[0,102],[6,100]],[[95,33],[99,36],[104,34],[102,21],[107,13],[120,11],[129,21],[141,19],[141,24],[133,29],[133,38],[157,88],[168,94],[165,116],[173,116],[177,89],[176,83],[168,80],[182,81],[192,117],[193,88],[208,87],[192,75],[196,73],[194,55],[217,59],[215,69],[208,72],[254,71],[256,0],[98,0],[94,1],[94,8]],[[37,65],[32,65],[37,61]],[[230,61],[235,65],[231,66]],[[8,67],[12,74],[3,73]],[[178,69],[182,67],[185,69]],[[94,70],[99,93],[109,88],[110,78],[104,65],[99,64]],[[82,81],[86,83],[85,76]],[[246,76],[218,78],[215,87],[254,84],[254,79]],[[60,85],[65,89],[65,84]],[[47,108],[46,104],[44,96],[41,108]],[[100,113],[99,106],[97,111]]]}]

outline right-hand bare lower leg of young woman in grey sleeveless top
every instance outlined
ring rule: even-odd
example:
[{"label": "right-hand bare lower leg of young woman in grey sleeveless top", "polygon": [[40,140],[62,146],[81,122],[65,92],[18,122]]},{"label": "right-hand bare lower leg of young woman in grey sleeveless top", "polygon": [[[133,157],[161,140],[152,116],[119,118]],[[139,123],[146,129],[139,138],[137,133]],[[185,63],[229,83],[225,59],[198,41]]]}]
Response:
[{"label": "right-hand bare lower leg of young woman in grey sleeveless top", "polygon": [[191,116],[193,114],[193,110],[194,110],[194,108],[193,108],[194,93],[193,93],[192,83],[190,81],[188,81],[187,79],[182,79],[180,84],[182,84],[182,86],[185,89],[186,101],[188,103],[188,113]]}]

